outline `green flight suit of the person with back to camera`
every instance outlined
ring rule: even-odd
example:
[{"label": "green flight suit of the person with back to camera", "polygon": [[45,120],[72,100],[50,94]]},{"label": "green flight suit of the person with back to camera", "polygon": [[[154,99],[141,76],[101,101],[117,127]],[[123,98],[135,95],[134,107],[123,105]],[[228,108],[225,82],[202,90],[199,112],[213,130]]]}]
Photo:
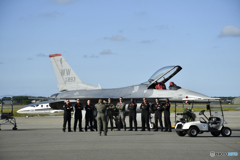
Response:
[{"label": "green flight suit of the person with back to camera", "polygon": [[[103,130],[104,134],[107,135],[107,129],[106,129],[106,104],[103,103],[97,103],[95,104],[95,108],[97,109],[97,126],[98,126],[98,134],[101,135],[101,124],[103,124]],[[101,123],[102,122],[102,123]]]}]

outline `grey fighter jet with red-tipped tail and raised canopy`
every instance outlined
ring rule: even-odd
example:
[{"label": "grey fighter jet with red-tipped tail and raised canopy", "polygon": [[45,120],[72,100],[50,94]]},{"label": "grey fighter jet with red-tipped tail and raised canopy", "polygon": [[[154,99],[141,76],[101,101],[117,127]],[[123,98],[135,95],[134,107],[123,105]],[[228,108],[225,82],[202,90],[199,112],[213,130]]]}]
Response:
[{"label": "grey fighter jet with red-tipped tail and raised canopy", "polygon": [[141,84],[104,89],[100,86],[83,83],[61,54],[51,54],[49,57],[58,80],[58,90],[60,92],[51,96],[56,100],[56,103],[53,101],[50,105],[55,108],[62,109],[65,99],[75,100],[77,98],[80,98],[82,103],[85,103],[88,99],[92,103],[97,103],[99,98],[107,99],[109,97],[113,99],[112,102],[117,102],[119,97],[123,97],[126,103],[130,102],[131,98],[134,98],[137,103],[141,103],[142,98],[146,98],[149,102],[154,102],[155,98],[160,99],[160,101],[169,98],[170,102],[183,102],[184,100],[205,102],[211,99],[206,95],[181,88],[174,82],[170,82],[169,87],[166,87],[166,83],[182,70],[179,65],[163,67]]}]

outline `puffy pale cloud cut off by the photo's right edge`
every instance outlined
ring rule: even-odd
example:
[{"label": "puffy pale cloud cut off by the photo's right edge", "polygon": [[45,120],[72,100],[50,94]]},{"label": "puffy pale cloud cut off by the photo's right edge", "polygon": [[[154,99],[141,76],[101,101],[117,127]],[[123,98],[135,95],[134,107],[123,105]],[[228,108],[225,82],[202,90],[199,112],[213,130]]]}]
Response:
[{"label": "puffy pale cloud cut off by the photo's right edge", "polygon": [[240,28],[235,26],[226,26],[222,29],[219,37],[239,37],[240,36]]}]

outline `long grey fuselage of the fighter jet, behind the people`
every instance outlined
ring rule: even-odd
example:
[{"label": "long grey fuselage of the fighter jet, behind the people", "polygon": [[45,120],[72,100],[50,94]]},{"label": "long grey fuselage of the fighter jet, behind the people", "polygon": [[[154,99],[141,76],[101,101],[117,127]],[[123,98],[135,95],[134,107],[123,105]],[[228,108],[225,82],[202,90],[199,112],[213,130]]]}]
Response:
[{"label": "long grey fuselage of the fighter jet, behind the people", "polygon": [[155,98],[166,99],[169,98],[170,101],[182,102],[184,98],[195,98],[196,100],[202,100],[210,98],[200,93],[190,91],[188,89],[178,89],[178,90],[160,90],[160,89],[148,89],[148,85],[140,84],[133,85],[123,88],[115,89],[96,89],[96,90],[76,90],[62,92],[57,95],[57,99],[107,99],[107,98],[118,99],[123,97],[125,100],[142,99],[147,98],[150,101],[154,101]]}]

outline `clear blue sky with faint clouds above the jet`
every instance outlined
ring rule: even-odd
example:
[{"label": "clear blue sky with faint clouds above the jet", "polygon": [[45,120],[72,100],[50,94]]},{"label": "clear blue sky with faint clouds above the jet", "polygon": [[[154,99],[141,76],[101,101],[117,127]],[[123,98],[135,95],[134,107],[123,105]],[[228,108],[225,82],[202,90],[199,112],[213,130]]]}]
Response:
[{"label": "clear blue sky with faint clouds above the jet", "polygon": [[0,96],[58,93],[50,54],[102,88],[180,65],[169,82],[240,96],[240,1],[1,0]]}]

